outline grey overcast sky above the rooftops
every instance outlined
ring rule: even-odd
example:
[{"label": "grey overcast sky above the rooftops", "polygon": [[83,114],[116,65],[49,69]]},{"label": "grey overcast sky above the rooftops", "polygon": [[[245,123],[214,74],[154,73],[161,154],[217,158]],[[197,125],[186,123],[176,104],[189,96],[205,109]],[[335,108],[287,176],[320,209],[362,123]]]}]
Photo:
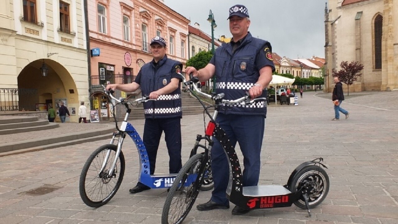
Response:
[{"label": "grey overcast sky above the rooftops", "polygon": [[214,14],[217,28],[215,38],[231,37],[228,9],[243,4],[249,10],[250,33],[269,41],[272,51],[281,57],[324,58],[324,9],[326,0],[164,0],[164,4],[200,24],[200,29],[211,35],[207,21],[209,10]]}]

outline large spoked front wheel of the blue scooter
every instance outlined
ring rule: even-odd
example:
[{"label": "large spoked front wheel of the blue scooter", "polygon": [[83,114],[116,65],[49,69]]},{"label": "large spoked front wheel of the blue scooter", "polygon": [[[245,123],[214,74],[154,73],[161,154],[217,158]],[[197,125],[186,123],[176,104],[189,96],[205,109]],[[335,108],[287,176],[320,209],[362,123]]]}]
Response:
[{"label": "large spoked front wheel of the blue scooter", "polygon": [[[125,171],[123,152],[119,154],[113,173],[108,175],[115,160],[116,149],[116,145],[103,145],[96,149],[84,164],[80,175],[79,191],[83,202],[90,207],[96,208],[106,204],[120,187]],[[109,158],[101,170],[108,152]]]}]

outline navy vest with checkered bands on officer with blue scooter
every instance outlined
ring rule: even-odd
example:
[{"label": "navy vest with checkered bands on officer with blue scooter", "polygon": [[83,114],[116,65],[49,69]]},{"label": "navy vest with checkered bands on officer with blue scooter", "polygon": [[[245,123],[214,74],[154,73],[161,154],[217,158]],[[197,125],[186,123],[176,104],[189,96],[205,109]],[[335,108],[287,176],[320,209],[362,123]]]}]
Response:
[{"label": "navy vest with checkered bands on officer with blue scooter", "polygon": [[[166,56],[158,65],[152,60],[141,68],[141,91],[142,96],[163,88],[170,83],[172,79],[172,71],[176,70],[176,66],[180,69],[181,63],[168,59]],[[169,94],[160,95],[157,100],[150,100],[144,103],[145,118],[181,118],[181,89],[178,88]]]}]

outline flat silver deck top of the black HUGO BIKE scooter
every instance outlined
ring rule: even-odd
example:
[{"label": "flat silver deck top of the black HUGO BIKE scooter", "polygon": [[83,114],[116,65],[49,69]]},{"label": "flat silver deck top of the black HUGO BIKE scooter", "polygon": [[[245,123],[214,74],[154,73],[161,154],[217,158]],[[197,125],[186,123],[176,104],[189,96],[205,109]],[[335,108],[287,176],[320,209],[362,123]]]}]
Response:
[{"label": "flat silver deck top of the black HUGO BIKE scooter", "polygon": [[291,191],[281,185],[260,185],[243,187],[243,196],[261,197],[288,194],[291,194]]}]

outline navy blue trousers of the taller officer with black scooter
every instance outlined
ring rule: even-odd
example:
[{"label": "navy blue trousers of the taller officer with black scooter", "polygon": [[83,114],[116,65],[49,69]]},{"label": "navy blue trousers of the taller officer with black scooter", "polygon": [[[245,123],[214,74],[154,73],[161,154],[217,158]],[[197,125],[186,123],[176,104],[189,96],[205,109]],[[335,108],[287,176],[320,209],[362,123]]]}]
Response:
[{"label": "navy blue trousers of the taller officer with black scooter", "polygon": [[[256,186],[260,175],[260,153],[265,127],[264,116],[219,114],[216,121],[225,130],[234,147],[237,141],[239,143],[244,157],[243,186]],[[240,161],[240,164],[242,165],[242,161]],[[211,171],[214,181],[211,200],[217,204],[229,204],[225,193],[228,186],[229,165],[219,141],[216,141],[211,149]]]}]

